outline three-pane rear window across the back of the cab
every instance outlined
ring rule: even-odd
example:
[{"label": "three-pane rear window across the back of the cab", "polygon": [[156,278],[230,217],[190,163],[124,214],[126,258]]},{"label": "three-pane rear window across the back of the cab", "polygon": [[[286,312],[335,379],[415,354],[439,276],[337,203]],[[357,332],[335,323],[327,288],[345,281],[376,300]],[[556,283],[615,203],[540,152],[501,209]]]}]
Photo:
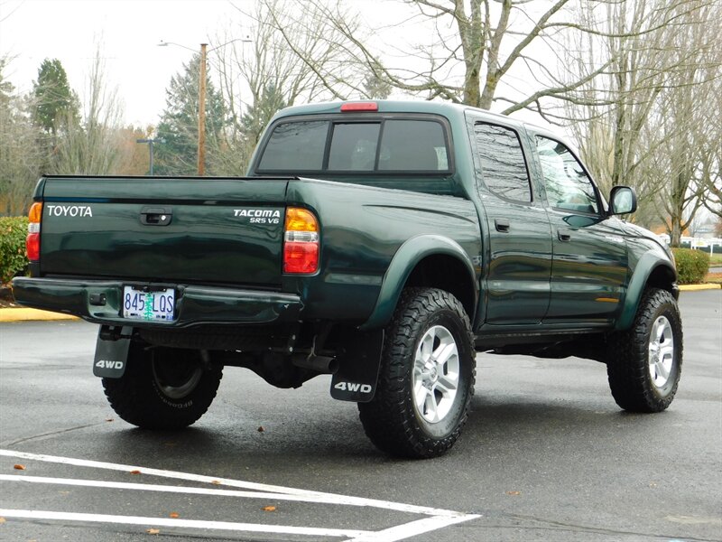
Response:
[{"label": "three-pane rear window across the back of the cab", "polygon": [[296,120],[273,128],[261,173],[449,173],[445,126],[430,119]]}]

